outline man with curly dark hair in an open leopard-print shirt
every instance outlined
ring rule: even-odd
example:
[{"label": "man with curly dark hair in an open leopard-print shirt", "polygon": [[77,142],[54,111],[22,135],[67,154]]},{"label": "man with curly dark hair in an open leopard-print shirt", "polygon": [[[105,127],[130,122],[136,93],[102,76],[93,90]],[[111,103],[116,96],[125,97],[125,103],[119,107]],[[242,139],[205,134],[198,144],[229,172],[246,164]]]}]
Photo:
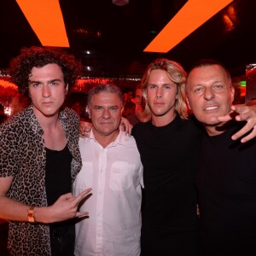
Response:
[{"label": "man with curly dark hair in an open leopard-print shirt", "polygon": [[63,108],[79,62],[60,49],[21,49],[10,74],[32,104],[0,129],[0,218],[9,220],[11,255],[73,255],[81,168],[79,116]]}]

